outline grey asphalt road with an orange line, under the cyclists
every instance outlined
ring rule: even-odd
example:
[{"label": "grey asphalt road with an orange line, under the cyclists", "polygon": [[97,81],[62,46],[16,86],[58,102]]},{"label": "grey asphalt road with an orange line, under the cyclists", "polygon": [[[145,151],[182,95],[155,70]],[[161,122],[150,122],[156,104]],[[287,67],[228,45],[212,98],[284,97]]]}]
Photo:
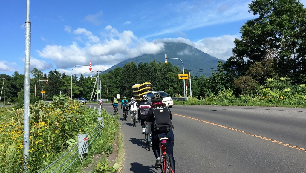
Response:
[{"label": "grey asphalt road with an orange line, under the cyclists", "polygon": [[[97,105],[97,104],[96,104]],[[103,108],[111,112],[112,105]],[[306,172],[306,109],[177,106],[173,114],[177,173]],[[123,172],[160,172],[147,151],[141,126],[122,119]]]}]

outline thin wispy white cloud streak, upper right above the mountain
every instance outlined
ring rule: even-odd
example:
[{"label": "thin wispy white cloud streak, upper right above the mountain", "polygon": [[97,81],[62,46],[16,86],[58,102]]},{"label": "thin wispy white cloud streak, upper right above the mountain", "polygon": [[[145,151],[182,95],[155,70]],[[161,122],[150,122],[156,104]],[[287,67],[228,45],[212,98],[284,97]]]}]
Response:
[{"label": "thin wispy white cloud streak, upper right above the mountain", "polygon": [[[252,13],[248,12],[248,4],[245,0],[237,1],[198,1],[182,2],[175,4],[172,8],[174,11],[169,11],[173,14],[170,20],[167,18],[165,23],[168,26],[165,29],[160,29],[158,32],[149,34],[144,38],[159,36],[167,33],[184,32],[195,28],[211,26],[216,24],[230,23],[250,19]],[[186,8],[187,7],[187,8]]]}]

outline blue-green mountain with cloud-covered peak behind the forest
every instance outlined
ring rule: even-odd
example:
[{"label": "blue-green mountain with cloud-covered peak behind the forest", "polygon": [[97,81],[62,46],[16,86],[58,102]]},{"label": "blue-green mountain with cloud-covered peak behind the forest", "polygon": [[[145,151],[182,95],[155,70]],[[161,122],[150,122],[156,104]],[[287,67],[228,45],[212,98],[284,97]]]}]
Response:
[{"label": "blue-green mountain with cloud-covered peak behind the forest", "polygon": [[[126,63],[134,61],[137,65],[138,63],[150,63],[155,59],[156,62],[165,62],[165,54],[167,58],[179,58],[184,63],[184,68],[190,71],[192,76],[204,75],[205,77],[211,76],[211,70],[216,70],[213,68],[217,67],[219,58],[215,58],[207,53],[200,51],[199,49],[190,46],[186,43],[164,43],[164,51],[159,54],[147,54],[136,58],[127,59],[122,61],[109,69],[114,70],[116,67],[123,67]],[[183,64],[179,59],[167,59],[174,66],[178,66],[181,70],[183,69]],[[224,60],[221,60],[225,62]]]}]

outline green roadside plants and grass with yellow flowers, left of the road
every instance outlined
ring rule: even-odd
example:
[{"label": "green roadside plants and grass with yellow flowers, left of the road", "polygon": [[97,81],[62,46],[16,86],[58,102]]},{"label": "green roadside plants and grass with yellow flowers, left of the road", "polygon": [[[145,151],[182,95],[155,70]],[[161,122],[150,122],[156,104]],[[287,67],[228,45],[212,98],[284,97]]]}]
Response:
[{"label": "green roadside plants and grass with yellow flowers, left of the road", "polygon": [[[23,109],[1,107],[0,114],[0,172],[22,172]],[[40,101],[31,104],[27,165],[30,172],[38,172],[71,149],[77,143],[76,135],[88,134],[97,125],[98,117],[98,110],[88,109],[65,95],[54,96],[53,103]],[[112,145],[120,124],[118,117],[111,116],[104,110],[103,118],[105,127],[91,143],[87,157],[82,163],[76,161],[68,172],[80,172],[83,166],[91,163],[95,154],[103,153],[106,158],[112,153]],[[68,155],[76,151],[77,148]],[[45,172],[54,171],[69,156],[62,158]],[[72,161],[73,159],[69,160],[59,171],[63,171]]]}]

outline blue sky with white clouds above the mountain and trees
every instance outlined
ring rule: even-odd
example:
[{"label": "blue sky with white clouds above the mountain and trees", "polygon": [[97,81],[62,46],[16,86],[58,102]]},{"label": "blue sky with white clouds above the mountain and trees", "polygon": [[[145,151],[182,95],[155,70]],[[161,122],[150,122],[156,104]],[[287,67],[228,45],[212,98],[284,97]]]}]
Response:
[{"label": "blue sky with white clouds above the mountain and trees", "polygon": [[[242,24],[255,18],[248,13],[250,3],[31,0],[31,70],[36,67],[48,73],[56,69],[69,75],[73,66],[91,61],[92,71],[103,71],[128,58],[160,53],[167,41],[188,43],[226,60]],[[26,0],[1,4],[0,73],[24,74]],[[90,75],[88,68],[76,67],[73,74]]]}]

